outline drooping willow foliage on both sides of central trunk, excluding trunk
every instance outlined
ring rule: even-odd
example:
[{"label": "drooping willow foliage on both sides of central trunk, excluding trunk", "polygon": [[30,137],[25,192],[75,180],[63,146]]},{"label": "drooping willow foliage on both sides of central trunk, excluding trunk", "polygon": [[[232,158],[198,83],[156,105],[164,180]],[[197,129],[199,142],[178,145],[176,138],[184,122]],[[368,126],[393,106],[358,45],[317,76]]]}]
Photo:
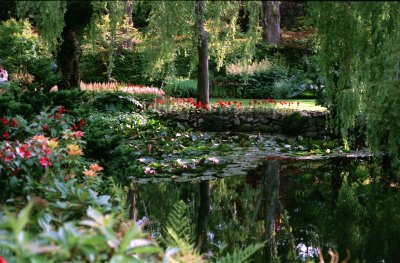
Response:
[{"label": "drooping willow foliage on both sides of central trunk, excluding trunk", "polygon": [[[238,2],[207,2],[206,20],[210,56],[216,68],[223,65],[232,47],[237,29]],[[160,1],[153,4],[146,36],[142,42],[146,62],[146,75],[176,76],[176,64],[190,58],[190,70],[197,65],[197,32],[194,30],[194,2]],[[187,77],[187,76],[185,76]]]}]

